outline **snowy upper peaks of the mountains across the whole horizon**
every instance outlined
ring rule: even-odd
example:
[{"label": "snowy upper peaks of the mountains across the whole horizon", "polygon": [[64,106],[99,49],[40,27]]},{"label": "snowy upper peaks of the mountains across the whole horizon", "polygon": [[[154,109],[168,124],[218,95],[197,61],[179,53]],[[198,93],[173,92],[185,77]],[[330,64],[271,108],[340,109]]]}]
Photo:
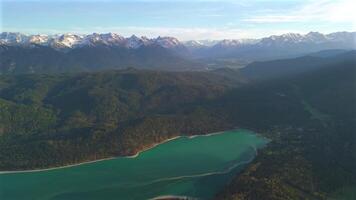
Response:
[{"label": "snowy upper peaks of the mountains across the whole horizon", "polygon": [[[319,45],[327,43],[342,43],[355,44],[356,32],[336,32],[330,34],[321,34],[318,32],[310,32],[305,35],[298,33],[287,33],[282,35],[272,35],[262,39],[225,39],[225,40],[191,40],[187,42],[180,42],[173,37],[157,37],[149,39],[147,37],[137,37],[132,35],[129,38],[124,38],[115,33],[98,34],[93,33],[89,35],[77,34],[61,34],[61,35],[25,35],[21,33],[2,32],[0,33],[0,44],[6,45],[22,45],[31,46],[32,44],[50,46],[55,49],[77,48],[82,46],[95,45],[110,45],[122,46],[126,48],[136,49],[141,46],[157,44],[164,48],[178,49],[180,47],[188,47],[191,49],[200,48],[240,48],[245,46],[258,47],[286,47],[295,44],[309,44]],[[329,45],[330,46],[330,45]]]}]

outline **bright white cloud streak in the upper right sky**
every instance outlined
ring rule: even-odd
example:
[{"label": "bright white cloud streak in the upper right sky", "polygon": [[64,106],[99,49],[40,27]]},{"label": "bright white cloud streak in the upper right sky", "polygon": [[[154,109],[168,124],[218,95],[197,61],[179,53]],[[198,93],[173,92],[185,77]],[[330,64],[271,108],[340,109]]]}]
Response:
[{"label": "bright white cloud streak in the upper right sky", "polygon": [[356,1],[354,0],[309,0],[299,9],[287,11],[286,14],[267,13],[246,18],[244,21],[255,23],[341,22],[355,26],[355,8]]}]

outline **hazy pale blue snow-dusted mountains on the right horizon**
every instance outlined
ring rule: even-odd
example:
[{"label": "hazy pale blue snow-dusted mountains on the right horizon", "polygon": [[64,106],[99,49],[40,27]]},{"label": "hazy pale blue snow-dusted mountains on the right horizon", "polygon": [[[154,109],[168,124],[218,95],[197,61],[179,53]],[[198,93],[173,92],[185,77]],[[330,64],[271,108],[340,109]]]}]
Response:
[{"label": "hazy pale blue snow-dusted mountains on the right horizon", "polygon": [[250,61],[305,55],[326,49],[355,49],[356,32],[302,35],[288,33],[259,40],[222,40],[213,46],[189,48],[197,58],[235,58]]}]

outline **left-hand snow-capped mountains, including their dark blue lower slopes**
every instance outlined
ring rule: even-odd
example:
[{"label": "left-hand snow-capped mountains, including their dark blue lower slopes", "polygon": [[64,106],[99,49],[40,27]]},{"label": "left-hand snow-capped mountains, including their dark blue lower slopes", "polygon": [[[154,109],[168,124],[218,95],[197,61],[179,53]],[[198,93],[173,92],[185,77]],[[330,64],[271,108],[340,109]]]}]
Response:
[{"label": "left-hand snow-capped mountains, including their dark blue lower slopes", "polygon": [[114,33],[90,35],[0,34],[0,73],[55,73],[123,69],[197,70],[203,65],[183,58],[176,38],[149,39]]}]

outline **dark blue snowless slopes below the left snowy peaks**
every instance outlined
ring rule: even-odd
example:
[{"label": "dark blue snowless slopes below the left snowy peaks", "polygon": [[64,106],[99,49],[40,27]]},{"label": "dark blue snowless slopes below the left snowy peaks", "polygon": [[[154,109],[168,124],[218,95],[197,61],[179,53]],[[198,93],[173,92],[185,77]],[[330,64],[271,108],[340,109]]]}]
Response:
[{"label": "dark blue snowless slopes below the left snowy peaks", "polygon": [[197,70],[201,63],[187,60],[158,45],[136,49],[96,45],[57,51],[46,46],[0,46],[0,73],[55,73],[123,69]]}]

